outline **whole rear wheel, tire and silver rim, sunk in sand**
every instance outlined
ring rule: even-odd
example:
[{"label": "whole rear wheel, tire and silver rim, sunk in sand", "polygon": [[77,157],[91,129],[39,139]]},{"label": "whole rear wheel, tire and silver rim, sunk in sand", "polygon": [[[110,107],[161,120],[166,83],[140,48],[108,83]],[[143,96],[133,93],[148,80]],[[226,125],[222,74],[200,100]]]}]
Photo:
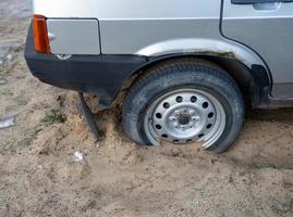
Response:
[{"label": "whole rear wheel, tire and silver rim, sunk in sand", "polygon": [[184,58],[159,63],[134,82],[122,125],[137,144],[202,141],[205,149],[221,153],[239,136],[244,110],[243,95],[225,71]]}]

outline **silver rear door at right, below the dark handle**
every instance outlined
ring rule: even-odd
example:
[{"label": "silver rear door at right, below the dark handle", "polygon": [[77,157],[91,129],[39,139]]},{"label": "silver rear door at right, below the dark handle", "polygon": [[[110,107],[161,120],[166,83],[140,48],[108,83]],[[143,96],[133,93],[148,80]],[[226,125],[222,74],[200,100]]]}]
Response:
[{"label": "silver rear door at right, below the dark handle", "polygon": [[274,98],[293,98],[293,2],[232,4],[224,1],[222,33],[253,48],[268,64]]}]

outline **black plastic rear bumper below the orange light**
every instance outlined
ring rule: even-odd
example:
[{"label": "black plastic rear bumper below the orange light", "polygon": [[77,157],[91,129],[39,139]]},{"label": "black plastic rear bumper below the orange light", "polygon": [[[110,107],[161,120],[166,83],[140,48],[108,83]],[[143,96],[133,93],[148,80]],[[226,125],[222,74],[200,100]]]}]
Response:
[{"label": "black plastic rear bumper below the orange light", "polygon": [[[73,44],[74,46],[74,44]],[[37,53],[29,28],[24,53],[32,74],[39,80],[64,89],[95,93],[108,107],[124,81],[147,59],[137,55],[73,55],[60,60],[52,54]]]}]

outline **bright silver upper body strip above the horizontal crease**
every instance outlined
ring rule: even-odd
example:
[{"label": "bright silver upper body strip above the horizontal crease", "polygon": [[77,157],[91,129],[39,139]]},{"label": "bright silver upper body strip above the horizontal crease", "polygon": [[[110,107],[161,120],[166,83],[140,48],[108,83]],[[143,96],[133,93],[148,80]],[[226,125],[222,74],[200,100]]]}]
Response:
[{"label": "bright silver upper body strip above the horizontal crease", "polygon": [[34,0],[47,17],[106,20],[219,18],[220,0]]}]

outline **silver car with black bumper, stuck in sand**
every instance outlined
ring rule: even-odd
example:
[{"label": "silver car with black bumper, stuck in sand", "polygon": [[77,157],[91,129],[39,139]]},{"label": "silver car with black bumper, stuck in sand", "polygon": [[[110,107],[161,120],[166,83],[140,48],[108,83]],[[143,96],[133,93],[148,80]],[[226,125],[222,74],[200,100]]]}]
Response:
[{"label": "silver car with black bumper, stuck in sand", "polygon": [[122,125],[137,144],[200,142],[221,153],[247,107],[293,106],[292,0],[33,4],[25,48],[33,75],[82,99],[98,95],[101,110],[127,90]]}]

